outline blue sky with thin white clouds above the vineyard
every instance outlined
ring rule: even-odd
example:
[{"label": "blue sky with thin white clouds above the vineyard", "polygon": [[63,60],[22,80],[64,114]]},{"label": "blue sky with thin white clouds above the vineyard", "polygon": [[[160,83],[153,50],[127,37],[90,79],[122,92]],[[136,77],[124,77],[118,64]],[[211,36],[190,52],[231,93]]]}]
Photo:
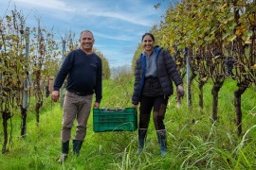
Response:
[{"label": "blue sky with thin white clouds above the vineyard", "polygon": [[[174,0],[1,0],[0,17],[14,6],[27,18],[27,26],[54,27],[59,39],[72,31],[78,36],[83,29],[94,33],[98,50],[110,67],[131,65],[143,33],[163,20]],[[161,3],[157,9],[154,6]],[[8,10],[7,10],[8,9]]]}]

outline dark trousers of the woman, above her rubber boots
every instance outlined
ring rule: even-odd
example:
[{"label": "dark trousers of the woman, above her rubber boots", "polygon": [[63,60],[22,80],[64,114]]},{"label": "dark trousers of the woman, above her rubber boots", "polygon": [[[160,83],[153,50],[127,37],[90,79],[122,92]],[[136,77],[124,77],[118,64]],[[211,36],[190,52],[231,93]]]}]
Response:
[{"label": "dark trousers of the woman, above her rubber boots", "polygon": [[164,96],[141,96],[139,107],[139,128],[148,128],[150,114],[153,109],[155,130],[165,129],[163,120],[169,97]]}]

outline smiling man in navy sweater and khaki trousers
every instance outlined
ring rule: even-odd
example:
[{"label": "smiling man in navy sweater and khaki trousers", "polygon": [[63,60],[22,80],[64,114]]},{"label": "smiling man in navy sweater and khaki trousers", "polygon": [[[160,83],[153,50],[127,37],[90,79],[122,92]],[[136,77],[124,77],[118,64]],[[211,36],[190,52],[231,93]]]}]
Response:
[{"label": "smiling man in navy sweater and khaki trousers", "polygon": [[68,54],[56,77],[52,100],[58,101],[59,90],[67,78],[64,96],[64,113],[62,123],[62,154],[59,162],[67,159],[71,128],[77,119],[76,134],[73,139],[73,152],[79,156],[82,142],[86,135],[86,125],[91,110],[93,93],[96,94],[94,108],[100,108],[102,97],[102,65],[101,59],[93,52],[95,42],[89,30],[83,30],[80,35],[80,49]]}]

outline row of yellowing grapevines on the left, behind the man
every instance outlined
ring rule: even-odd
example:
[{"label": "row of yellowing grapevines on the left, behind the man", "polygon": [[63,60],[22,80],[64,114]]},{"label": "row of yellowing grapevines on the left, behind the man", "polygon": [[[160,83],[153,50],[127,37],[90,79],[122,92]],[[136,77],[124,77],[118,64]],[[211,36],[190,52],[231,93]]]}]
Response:
[{"label": "row of yellowing grapevines on the left, behind the man", "polygon": [[[63,39],[63,56],[78,47],[71,32]],[[108,61],[102,59],[103,78],[110,77]],[[0,19],[0,111],[3,124],[2,153],[8,152],[12,141],[11,117],[22,114],[22,135],[26,132],[27,108],[30,94],[35,97],[36,122],[44,103],[44,91],[50,76],[56,75],[61,65],[59,44],[54,40],[53,30],[40,25],[29,28],[21,11],[16,8]],[[55,73],[55,74],[54,74]],[[29,78],[28,78],[29,77]],[[28,80],[29,79],[29,80]],[[10,122],[10,123],[9,123]]]}]

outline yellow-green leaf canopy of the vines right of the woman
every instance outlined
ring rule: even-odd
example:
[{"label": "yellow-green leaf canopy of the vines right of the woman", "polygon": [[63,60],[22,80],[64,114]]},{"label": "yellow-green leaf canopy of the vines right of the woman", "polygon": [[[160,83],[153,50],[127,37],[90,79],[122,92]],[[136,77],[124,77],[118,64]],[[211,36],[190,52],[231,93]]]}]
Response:
[{"label": "yellow-green leaf canopy of the vines right of the woman", "polygon": [[[193,58],[199,54],[206,59],[221,52],[236,60],[234,79],[240,84],[255,83],[255,11],[254,1],[182,0],[175,7],[168,8],[165,21],[153,30],[158,44],[171,54],[183,51],[185,47],[190,47]],[[193,58],[191,67],[196,67]],[[220,63],[224,63],[224,59],[220,58]],[[214,59],[210,59],[210,70],[204,72],[222,81],[225,74],[212,62]],[[224,69],[221,64],[219,66]],[[185,67],[179,69],[185,70]]]}]

